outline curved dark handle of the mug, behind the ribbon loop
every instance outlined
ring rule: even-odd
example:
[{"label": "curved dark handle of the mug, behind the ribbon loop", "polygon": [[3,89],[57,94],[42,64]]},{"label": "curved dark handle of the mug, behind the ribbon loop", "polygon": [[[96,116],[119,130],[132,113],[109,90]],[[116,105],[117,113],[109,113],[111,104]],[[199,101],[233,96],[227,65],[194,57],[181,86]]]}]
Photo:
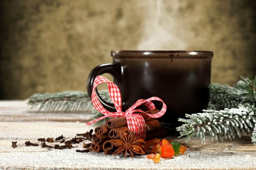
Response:
[{"label": "curved dark handle of the mug, behind the ribbon loop", "polygon": [[[122,78],[123,78],[123,67],[121,65],[118,64],[101,64],[96,66],[94,69],[92,69],[91,73],[88,76],[87,79],[87,93],[88,96],[91,99],[91,93],[92,93],[92,88],[93,88],[93,82],[94,79],[104,73],[109,73],[111,74],[113,77],[115,77],[117,79],[117,81],[121,82]],[[97,88],[95,89],[97,97],[100,101],[100,103],[103,105],[104,108],[106,108],[108,111],[114,112],[116,111],[115,106],[113,103],[109,103],[106,102],[105,100],[103,100],[100,97],[100,94],[97,90]],[[122,105],[124,105],[124,103],[122,103]]]}]

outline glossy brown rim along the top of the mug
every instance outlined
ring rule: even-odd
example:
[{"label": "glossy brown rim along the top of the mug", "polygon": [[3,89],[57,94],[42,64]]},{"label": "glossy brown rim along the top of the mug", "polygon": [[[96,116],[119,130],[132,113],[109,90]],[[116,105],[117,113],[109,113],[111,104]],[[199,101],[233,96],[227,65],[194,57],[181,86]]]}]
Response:
[{"label": "glossy brown rim along the top of the mug", "polygon": [[213,51],[152,51],[152,50],[113,50],[113,58],[202,58],[212,59]]}]

